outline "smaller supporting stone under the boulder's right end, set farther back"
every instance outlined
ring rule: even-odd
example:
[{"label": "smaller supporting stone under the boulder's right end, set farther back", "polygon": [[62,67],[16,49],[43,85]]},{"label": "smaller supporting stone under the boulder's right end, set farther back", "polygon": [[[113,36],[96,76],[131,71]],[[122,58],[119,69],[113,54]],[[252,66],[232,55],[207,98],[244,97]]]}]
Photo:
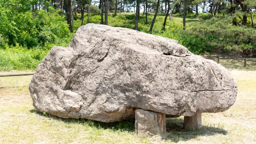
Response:
[{"label": "smaller supporting stone under the boulder's right end, set farther back", "polygon": [[184,130],[195,130],[202,126],[202,113],[197,112],[194,116],[184,116]]}]

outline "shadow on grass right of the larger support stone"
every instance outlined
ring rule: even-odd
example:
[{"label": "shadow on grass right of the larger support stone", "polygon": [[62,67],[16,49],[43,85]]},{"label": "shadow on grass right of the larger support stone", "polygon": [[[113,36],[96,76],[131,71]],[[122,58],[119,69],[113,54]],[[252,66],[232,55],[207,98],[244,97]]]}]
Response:
[{"label": "shadow on grass right of the larger support stone", "polygon": [[171,140],[172,142],[187,141],[198,136],[213,136],[215,134],[226,135],[227,131],[218,127],[202,126],[195,131],[183,130],[182,118],[166,118],[166,131],[168,133],[162,134],[164,140]]}]

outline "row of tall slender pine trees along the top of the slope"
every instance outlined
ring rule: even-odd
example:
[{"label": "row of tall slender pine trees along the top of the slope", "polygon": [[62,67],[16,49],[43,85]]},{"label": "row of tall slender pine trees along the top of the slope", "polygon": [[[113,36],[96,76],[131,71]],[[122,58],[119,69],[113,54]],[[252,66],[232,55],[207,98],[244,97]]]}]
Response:
[{"label": "row of tall slender pine trees along the top of the slope", "polygon": [[[36,0],[32,5],[32,9],[40,10],[40,6],[43,6],[46,1],[40,2],[40,0]],[[76,14],[76,11],[80,8],[82,16],[81,20],[83,21],[84,10],[87,12],[90,9],[96,10],[96,8],[90,8],[92,3],[98,4],[97,7],[101,9],[102,16],[102,24],[108,24],[108,12],[110,10],[114,10],[115,14],[117,11],[120,12],[131,12],[133,7],[133,12],[136,12],[135,17],[135,30],[138,29],[138,18],[140,15],[141,6],[143,8],[143,14],[146,14],[146,23],[147,23],[147,14],[150,11],[155,12],[155,16],[158,13],[161,14],[169,14],[170,11],[170,19],[173,13],[181,14],[183,12],[183,29],[186,29],[186,14],[193,13],[196,14],[196,18],[198,18],[198,7],[202,8],[202,13],[210,13],[211,16],[216,16],[216,14],[222,14],[225,16],[233,16],[232,24],[237,26],[247,26],[248,14],[250,14],[251,27],[254,28],[254,20],[253,20],[253,8],[254,13],[256,12],[256,0],[100,0],[100,1],[92,1],[92,0],[52,0],[49,1],[51,6],[54,8],[60,8],[66,14],[67,22],[69,24],[69,29],[72,32],[72,24],[74,23],[73,11]],[[39,6],[38,6],[39,5]],[[170,8],[172,7],[172,10]],[[47,9],[47,7],[44,7]],[[97,11],[97,10],[96,10]],[[98,11],[97,11],[98,12]],[[105,16],[105,18],[103,18]],[[166,16],[167,18],[167,16]],[[237,20],[238,19],[238,20]],[[153,19],[151,23],[151,27],[149,32],[152,31],[152,27],[154,26]],[[166,20],[165,20],[166,21]],[[165,27],[165,22],[163,24]],[[163,28],[164,28],[163,27]]]}]

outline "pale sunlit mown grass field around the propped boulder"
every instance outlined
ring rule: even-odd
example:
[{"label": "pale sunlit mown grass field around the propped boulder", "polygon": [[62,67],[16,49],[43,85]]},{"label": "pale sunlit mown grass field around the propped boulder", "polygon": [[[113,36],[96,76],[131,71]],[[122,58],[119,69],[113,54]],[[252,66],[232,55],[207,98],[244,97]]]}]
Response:
[{"label": "pale sunlit mown grass field around the propped boulder", "polygon": [[[232,63],[232,62],[231,62]],[[0,74],[31,71],[10,71]],[[167,118],[168,133],[138,136],[133,128],[92,120],[61,119],[37,112],[28,85],[32,76],[0,78],[0,143],[256,143],[256,69],[230,70],[238,83],[235,104],[220,113],[203,113],[203,127],[194,132],[180,130],[183,117]]]}]

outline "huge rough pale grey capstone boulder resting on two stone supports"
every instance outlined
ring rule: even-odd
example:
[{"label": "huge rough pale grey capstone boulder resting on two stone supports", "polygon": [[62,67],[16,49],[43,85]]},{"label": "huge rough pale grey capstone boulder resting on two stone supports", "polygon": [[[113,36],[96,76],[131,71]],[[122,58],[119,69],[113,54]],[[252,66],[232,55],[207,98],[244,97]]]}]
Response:
[{"label": "huge rough pale grey capstone boulder resting on two stone supports", "polygon": [[62,118],[114,122],[136,109],[194,116],[236,100],[228,70],[175,40],[127,28],[81,26],[67,48],[54,46],[29,86],[34,107]]}]

